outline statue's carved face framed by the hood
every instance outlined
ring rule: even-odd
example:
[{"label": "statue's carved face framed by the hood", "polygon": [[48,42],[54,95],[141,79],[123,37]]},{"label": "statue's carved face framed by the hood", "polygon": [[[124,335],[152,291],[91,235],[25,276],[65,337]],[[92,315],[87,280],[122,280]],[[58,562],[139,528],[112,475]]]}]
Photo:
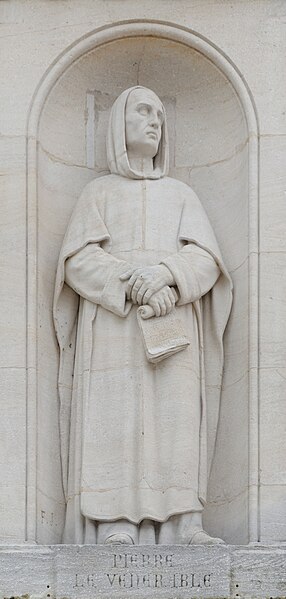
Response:
[{"label": "statue's carved face framed by the hood", "polygon": [[163,120],[162,103],[151,90],[132,91],[125,111],[127,151],[144,158],[154,158],[158,152]]}]

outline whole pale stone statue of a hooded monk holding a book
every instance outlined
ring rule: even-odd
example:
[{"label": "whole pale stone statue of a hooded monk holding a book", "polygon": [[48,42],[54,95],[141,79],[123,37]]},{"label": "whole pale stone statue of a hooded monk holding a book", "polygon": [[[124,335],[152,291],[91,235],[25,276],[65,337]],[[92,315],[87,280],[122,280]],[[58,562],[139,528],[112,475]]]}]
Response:
[{"label": "whole pale stone statue of a hooded monk holding a book", "polygon": [[231,281],[195,193],[167,177],[165,109],[114,103],[111,174],[63,242],[54,322],[65,543],[219,543],[202,527]]}]

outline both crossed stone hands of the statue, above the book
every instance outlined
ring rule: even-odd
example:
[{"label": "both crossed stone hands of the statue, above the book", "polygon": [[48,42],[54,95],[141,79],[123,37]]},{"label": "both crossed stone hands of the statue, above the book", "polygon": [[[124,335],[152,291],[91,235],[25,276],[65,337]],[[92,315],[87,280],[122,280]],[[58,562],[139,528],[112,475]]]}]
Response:
[{"label": "both crossed stone hands of the statue, above the book", "polygon": [[155,316],[169,314],[178,299],[172,273],[163,264],[132,268],[120,276],[121,281],[128,281],[126,297],[139,306],[148,304]]}]

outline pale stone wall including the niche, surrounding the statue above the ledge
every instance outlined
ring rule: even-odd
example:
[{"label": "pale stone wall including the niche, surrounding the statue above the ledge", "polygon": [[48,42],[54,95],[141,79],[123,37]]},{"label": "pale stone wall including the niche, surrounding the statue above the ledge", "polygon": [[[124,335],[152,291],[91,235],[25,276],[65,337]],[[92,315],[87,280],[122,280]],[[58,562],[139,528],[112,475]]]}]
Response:
[{"label": "pale stone wall including the niche, surrounding the statue above the ledge", "polygon": [[200,196],[235,286],[206,526],[285,541],[285,13],[278,0],[1,2],[3,543],[60,542],[55,267],[76,198],[106,172],[109,107],[137,83],[164,99],[171,175]]}]

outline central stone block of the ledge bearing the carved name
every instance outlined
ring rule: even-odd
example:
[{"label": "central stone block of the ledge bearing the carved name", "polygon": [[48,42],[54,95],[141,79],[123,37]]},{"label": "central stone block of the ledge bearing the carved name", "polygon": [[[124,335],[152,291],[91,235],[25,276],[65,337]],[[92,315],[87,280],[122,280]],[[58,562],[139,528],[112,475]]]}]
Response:
[{"label": "central stone block of the ledge bearing the carved name", "polygon": [[[58,597],[228,597],[225,548],[150,546],[63,547],[56,557]],[[65,572],[64,576],[59,572]]]}]

